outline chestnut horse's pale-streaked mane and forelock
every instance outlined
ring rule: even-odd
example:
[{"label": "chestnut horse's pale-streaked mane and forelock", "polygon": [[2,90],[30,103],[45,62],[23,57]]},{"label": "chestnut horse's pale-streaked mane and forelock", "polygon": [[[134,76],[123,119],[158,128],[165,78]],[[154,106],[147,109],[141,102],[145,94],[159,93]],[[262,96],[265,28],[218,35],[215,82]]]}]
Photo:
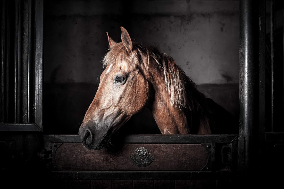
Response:
[{"label": "chestnut horse's pale-streaked mane and forelock", "polygon": [[[142,57],[147,57],[147,69],[150,63],[157,63],[157,68],[164,74],[166,90],[170,96],[170,105],[179,109],[189,109],[191,112],[202,111],[202,102],[205,95],[199,92],[196,84],[176,64],[174,59],[164,52],[160,52],[156,46],[142,46],[133,43],[133,52],[137,52],[140,63]],[[103,67],[116,61],[128,60],[130,54],[122,43],[116,43],[108,49],[102,64]]]}]

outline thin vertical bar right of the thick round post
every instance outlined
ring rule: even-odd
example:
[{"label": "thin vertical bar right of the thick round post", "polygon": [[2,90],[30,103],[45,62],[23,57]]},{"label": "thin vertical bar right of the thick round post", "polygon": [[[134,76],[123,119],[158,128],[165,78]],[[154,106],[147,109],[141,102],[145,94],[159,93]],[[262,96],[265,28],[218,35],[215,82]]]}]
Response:
[{"label": "thin vertical bar right of the thick round post", "polygon": [[274,0],[270,3],[270,53],[271,53],[271,131],[273,132],[274,103]]}]

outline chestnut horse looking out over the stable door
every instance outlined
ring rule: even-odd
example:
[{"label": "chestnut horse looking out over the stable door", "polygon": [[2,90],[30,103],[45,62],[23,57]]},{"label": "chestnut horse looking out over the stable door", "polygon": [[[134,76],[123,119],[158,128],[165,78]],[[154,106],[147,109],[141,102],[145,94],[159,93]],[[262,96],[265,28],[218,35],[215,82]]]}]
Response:
[{"label": "chestnut horse looking out over the stable door", "polygon": [[151,110],[162,134],[231,132],[232,115],[199,92],[171,56],[156,46],[132,42],[124,27],[122,42],[106,34],[104,71],[79,129],[84,147],[105,147],[109,137],[144,107]]}]

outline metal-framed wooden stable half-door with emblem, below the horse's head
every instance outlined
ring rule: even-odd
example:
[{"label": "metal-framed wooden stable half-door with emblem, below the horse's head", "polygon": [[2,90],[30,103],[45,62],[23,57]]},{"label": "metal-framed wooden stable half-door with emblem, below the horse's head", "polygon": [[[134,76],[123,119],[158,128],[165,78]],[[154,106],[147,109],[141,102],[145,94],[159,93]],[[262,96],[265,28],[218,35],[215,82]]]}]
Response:
[{"label": "metal-framed wooden stable half-door with emblem, below the horse's head", "polygon": [[243,169],[239,135],[129,135],[115,150],[88,150],[78,135],[45,135],[60,179],[234,179]]}]

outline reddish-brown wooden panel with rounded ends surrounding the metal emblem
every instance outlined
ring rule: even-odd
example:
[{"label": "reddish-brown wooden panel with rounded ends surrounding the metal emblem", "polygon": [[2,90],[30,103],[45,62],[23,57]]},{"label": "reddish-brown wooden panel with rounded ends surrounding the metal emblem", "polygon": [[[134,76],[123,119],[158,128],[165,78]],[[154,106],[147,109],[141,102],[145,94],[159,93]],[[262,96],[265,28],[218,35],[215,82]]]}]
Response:
[{"label": "reddish-brown wooden panel with rounded ends surrounding the metal emblem", "polygon": [[[147,167],[132,164],[129,156],[145,147],[154,156]],[[119,152],[87,150],[82,144],[62,144],[55,161],[63,170],[201,170],[208,153],[200,144],[125,144]]]}]

